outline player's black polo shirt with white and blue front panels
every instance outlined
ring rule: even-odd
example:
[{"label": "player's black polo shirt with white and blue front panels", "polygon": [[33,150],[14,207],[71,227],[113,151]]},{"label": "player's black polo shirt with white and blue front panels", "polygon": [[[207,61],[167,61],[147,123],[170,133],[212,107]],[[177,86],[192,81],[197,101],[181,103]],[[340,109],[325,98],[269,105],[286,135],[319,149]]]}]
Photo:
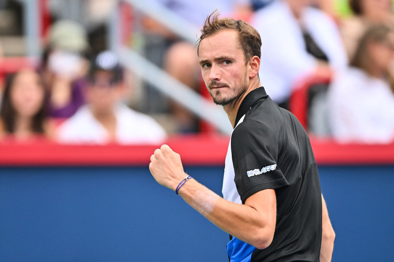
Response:
[{"label": "player's black polo shirt with white and blue front panels", "polygon": [[[297,118],[267,96],[251,91],[236,116],[226,157],[223,197],[234,203],[275,189],[277,221],[266,249],[232,238],[231,262],[319,261],[322,197],[316,161]],[[264,199],[262,199],[264,201]]]}]

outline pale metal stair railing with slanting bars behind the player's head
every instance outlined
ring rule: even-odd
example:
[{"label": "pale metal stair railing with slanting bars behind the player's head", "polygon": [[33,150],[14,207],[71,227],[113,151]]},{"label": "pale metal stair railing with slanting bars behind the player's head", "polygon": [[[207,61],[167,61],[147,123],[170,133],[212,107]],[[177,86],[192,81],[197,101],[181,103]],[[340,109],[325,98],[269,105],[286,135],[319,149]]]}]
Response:
[{"label": "pale metal stair railing with slanting bars behind the player's head", "polygon": [[[188,23],[175,15],[174,17],[170,18],[169,16],[173,15],[173,12],[169,11],[168,9],[164,11],[165,7],[159,7],[156,2],[155,4],[152,4],[151,2],[153,1],[145,0],[142,4],[140,0],[124,1],[139,9],[139,11],[142,11],[145,15],[154,15],[156,20],[163,22],[165,21],[165,25],[170,30],[173,30],[176,33],[177,31],[179,31],[179,33],[183,32],[181,37],[185,38],[186,40],[195,42],[197,39],[196,35],[194,35],[194,39],[192,40],[193,37],[191,35],[195,34],[198,29],[191,29],[187,26]],[[149,4],[146,2],[149,2]],[[136,5],[134,6],[134,4]],[[184,85],[169,75],[167,72],[148,61],[145,57],[138,54],[138,52],[131,50],[130,48],[121,44],[119,24],[119,9],[115,7],[113,9],[109,24],[108,43],[110,49],[118,54],[119,61],[123,66],[134,72],[136,76],[141,77],[141,79],[147,81],[147,83],[152,85],[152,87],[183,105],[192,113],[214,125],[221,132],[225,134],[231,134],[232,127],[226,113],[220,106],[214,105],[212,102],[206,100],[203,96],[191,90],[190,87]],[[179,28],[183,29],[178,30],[178,26]],[[186,27],[189,29],[184,30]]]}]

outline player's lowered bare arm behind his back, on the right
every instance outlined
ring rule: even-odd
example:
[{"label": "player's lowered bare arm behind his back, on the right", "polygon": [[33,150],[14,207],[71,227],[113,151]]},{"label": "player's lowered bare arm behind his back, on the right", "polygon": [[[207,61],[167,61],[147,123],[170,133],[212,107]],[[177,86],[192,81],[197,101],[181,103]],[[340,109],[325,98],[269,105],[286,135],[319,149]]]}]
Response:
[{"label": "player's lowered bare arm behind his back, on the right", "polygon": [[331,261],[334,239],[335,232],[328,217],[327,206],[322,195],[322,247],[320,249],[320,261]]}]

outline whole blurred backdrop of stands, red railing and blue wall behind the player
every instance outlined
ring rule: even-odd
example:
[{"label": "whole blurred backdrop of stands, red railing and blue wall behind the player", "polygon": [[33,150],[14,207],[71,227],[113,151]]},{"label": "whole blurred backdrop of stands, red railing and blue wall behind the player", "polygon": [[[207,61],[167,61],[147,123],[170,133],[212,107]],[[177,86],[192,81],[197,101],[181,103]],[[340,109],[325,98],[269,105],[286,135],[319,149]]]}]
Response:
[{"label": "whole blurred backdrop of stands, red railing and blue wall behind the player", "polygon": [[259,31],[309,133],[333,261],[392,259],[392,0],[0,0],[0,261],[227,261],[147,168],[167,143],[221,195],[232,128],[195,49],[215,9]]}]

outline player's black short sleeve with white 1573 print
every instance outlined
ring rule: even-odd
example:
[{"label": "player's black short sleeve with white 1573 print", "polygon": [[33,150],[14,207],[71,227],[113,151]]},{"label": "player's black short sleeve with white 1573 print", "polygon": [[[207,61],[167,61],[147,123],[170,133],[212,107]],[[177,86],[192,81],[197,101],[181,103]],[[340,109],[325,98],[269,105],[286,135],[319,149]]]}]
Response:
[{"label": "player's black short sleeve with white 1573 print", "polygon": [[279,144],[273,131],[262,122],[246,119],[231,136],[234,182],[242,203],[264,189],[288,186],[277,166]]}]

